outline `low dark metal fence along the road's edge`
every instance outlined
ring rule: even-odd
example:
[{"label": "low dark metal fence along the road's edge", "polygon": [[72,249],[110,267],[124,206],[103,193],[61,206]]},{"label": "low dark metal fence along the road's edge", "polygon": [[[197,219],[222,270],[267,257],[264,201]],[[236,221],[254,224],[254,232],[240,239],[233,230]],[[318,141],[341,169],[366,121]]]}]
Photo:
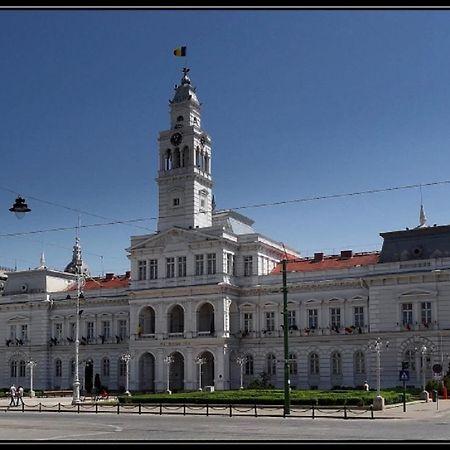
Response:
[{"label": "low dark metal fence along the road's edge", "polygon": [[177,414],[201,416],[247,416],[247,417],[286,417],[311,418],[327,417],[333,419],[375,419],[372,406],[369,407],[317,407],[292,406],[290,414],[285,414],[283,406],[274,405],[236,405],[236,404],[102,404],[97,402],[67,405],[55,403],[22,404],[20,406],[0,406],[4,412],[56,412],[56,413],[94,413],[94,414]]}]

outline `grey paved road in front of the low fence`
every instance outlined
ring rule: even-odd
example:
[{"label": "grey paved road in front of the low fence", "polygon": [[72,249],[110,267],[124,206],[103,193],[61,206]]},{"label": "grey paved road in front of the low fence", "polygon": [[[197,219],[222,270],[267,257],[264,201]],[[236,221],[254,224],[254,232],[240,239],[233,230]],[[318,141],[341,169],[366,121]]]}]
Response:
[{"label": "grey paved road in front of the low fence", "polygon": [[[54,405],[65,399],[25,402]],[[0,400],[0,406],[7,404]],[[448,441],[450,400],[417,402],[377,411],[375,419],[227,417],[58,412],[0,412],[3,441]]]}]

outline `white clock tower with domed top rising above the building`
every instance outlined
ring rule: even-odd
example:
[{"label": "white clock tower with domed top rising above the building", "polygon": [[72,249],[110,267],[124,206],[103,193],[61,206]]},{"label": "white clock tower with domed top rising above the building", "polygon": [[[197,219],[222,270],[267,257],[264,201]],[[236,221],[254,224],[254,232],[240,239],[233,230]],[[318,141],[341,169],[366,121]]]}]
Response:
[{"label": "white clock tower with domed top rising above the building", "polygon": [[183,69],[169,101],[170,129],[159,134],[158,231],[212,224],[211,140],[202,130],[200,102]]}]

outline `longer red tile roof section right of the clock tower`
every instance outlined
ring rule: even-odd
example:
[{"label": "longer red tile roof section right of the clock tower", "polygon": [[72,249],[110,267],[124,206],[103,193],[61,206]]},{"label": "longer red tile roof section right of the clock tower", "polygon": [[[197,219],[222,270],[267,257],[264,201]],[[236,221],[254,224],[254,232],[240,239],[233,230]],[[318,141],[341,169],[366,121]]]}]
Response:
[{"label": "longer red tile roof section right of the clock tower", "polygon": [[[380,257],[379,252],[374,253],[355,253],[350,258],[343,258],[340,255],[324,256],[322,260],[314,258],[297,259],[287,263],[288,272],[313,272],[317,270],[339,270],[350,267],[368,266],[376,264]],[[283,266],[279,263],[272,274],[281,273]]]}]

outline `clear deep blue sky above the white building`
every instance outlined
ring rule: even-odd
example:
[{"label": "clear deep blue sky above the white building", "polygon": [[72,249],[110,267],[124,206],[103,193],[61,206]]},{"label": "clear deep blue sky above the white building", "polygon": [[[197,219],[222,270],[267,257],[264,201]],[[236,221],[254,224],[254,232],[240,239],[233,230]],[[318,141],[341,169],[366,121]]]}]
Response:
[{"label": "clear deep blue sky above the white building", "polygon": [[130,269],[130,236],[156,231],[157,139],[184,66],[217,209],[303,256],[380,250],[421,203],[449,224],[449,23],[445,9],[0,10],[0,266],[44,253],[63,270],[78,229],[92,275]]}]

